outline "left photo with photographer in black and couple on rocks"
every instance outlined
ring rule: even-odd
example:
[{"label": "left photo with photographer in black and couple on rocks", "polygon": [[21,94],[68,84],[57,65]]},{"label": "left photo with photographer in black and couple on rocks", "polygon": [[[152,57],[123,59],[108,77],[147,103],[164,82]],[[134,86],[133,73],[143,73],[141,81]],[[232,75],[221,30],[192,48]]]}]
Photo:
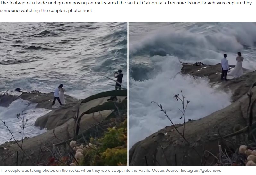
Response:
[{"label": "left photo with photographer in black and couple on rocks", "polygon": [[127,165],[127,23],[0,23],[1,165]]}]

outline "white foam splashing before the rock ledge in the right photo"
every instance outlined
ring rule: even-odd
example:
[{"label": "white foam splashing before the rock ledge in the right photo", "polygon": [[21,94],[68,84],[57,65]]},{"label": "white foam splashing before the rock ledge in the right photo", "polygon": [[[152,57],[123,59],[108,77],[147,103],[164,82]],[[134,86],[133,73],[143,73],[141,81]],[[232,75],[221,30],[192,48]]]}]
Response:
[{"label": "white foam splashing before the rock ledge in the right photo", "polygon": [[203,118],[231,104],[231,94],[211,88],[207,79],[179,74],[182,65],[177,57],[154,56],[151,60],[158,70],[154,78],[129,80],[129,149],[137,141],[171,125],[164,113],[151,101],[162,104],[175,124],[183,123],[183,119],[179,119],[182,114],[178,110],[182,104],[173,98],[181,90],[185,99],[190,101],[186,109],[186,121]]}]

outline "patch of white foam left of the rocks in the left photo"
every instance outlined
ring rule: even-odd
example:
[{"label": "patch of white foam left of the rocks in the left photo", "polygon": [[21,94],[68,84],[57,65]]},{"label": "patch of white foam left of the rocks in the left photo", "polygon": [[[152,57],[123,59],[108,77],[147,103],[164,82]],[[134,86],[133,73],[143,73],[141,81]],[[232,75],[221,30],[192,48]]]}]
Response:
[{"label": "patch of white foam left of the rocks in the left photo", "polygon": [[[36,108],[36,103],[30,103],[27,100],[17,99],[9,105],[8,108],[0,107],[0,118],[5,121],[5,124],[13,132],[13,136],[16,140],[22,139],[22,121],[17,118],[17,114],[22,117],[22,111],[25,119],[28,119],[27,124],[24,129],[25,137],[34,137],[46,132],[46,129],[40,130],[39,127],[34,126],[37,118],[47,114],[50,110]],[[21,133],[19,133],[21,132]],[[11,134],[4,127],[4,124],[0,123],[0,144],[10,141]],[[12,139],[13,140],[13,139]],[[11,141],[12,141],[11,140]]]}]

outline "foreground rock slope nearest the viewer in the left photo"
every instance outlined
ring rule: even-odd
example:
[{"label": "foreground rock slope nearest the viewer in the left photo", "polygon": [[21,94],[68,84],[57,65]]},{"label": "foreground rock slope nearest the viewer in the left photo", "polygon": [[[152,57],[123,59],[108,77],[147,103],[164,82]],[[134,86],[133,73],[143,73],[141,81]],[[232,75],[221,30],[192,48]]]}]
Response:
[{"label": "foreground rock slope nearest the viewer in the left photo", "polygon": [[[92,126],[98,125],[99,122],[103,121],[106,116],[108,116],[111,111],[102,111],[100,114],[90,114],[82,118],[81,131],[90,128]],[[46,149],[52,149],[53,144],[57,144],[60,141],[66,141],[73,137],[74,134],[74,124],[75,120],[69,119],[67,122],[61,126],[57,126],[53,130],[48,130],[47,132],[32,138],[26,138],[23,141],[22,149],[26,152],[28,156],[33,160],[31,162],[27,156],[24,157],[22,165],[36,165],[33,163],[46,163],[52,156],[51,152]],[[18,141],[21,145],[21,141]],[[61,152],[65,152],[65,145],[59,148]],[[21,158],[23,151],[17,146],[14,141],[6,142],[0,145],[0,166],[1,165],[17,165],[17,152],[18,152],[18,165],[21,164]]]}]

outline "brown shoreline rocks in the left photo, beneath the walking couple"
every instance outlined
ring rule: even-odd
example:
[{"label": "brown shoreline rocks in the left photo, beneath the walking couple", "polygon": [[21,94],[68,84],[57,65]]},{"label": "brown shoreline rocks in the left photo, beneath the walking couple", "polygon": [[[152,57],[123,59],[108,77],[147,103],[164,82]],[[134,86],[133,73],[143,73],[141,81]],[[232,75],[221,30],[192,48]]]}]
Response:
[{"label": "brown shoreline rocks in the left photo, beneath the walking couple", "polygon": [[[127,96],[127,95],[126,95]],[[37,103],[36,108],[45,108],[51,110],[46,115],[39,117],[35,126],[47,129],[47,132],[32,137],[25,138],[23,140],[23,146],[21,148],[15,141],[5,142],[0,145],[0,165],[36,165],[35,162],[47,163],[52,152],[49,151],[54,144],[60,141],[65,141],[74,136],[76,126],[76,114],[79,106],[81,106],[81,100],[75,99],[69,95],[65,95],[66,104],[57,109],[52,109],[51,104],[53,100],[53,93],[41,93],[39,91],[21,92],[19,95],[3,94],[0,95],[0,105],[8,107],[13,101],[17,99],[28,100],[31,103]],[[107,102],[109,97],[96,98],[85,103],[83,110],[89,110],[102,105]],[[118,97],[123,99],[123,97]],[[81,109],[80,109],[81,110]],[[104,121],[107,116],[112,113],[110,110],[99,111],[95,113],[87,114],[86,117],[81,118],[80,131],[94,127],[100,122]],[[112,121],[112,120],[111,120]],[[111,123],[109,120],[109,122]],[[108,120],[105,120],[105,125]],[[108,124],[107,124],[108,125]],[[110,124],[109,124],[110,126]],[[22,141],[18,141],[21,144]],[[65,144],[59,146],[59,150],[62,152],[65,150]],[[24,156],[24,152],[28,156]],[[43,152],[43,154],[42,154]],[[17,164],[18,157],[18,164]],[[25,157],[25,158],[24,158]],[[39,160],[40,159],[40,160]]]}]

